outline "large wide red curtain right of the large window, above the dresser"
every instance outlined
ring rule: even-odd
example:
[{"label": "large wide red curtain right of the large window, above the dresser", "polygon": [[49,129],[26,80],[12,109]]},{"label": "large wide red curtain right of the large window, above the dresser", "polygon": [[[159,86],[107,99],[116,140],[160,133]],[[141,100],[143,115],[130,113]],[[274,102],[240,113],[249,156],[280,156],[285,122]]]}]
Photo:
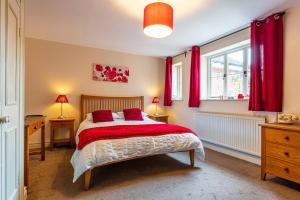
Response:
[{"label": "large wide red curtain right of the large window, above the dresser", "polygon": [[282,111],[283,14],[251,23],[251,85],[249,110]]}]

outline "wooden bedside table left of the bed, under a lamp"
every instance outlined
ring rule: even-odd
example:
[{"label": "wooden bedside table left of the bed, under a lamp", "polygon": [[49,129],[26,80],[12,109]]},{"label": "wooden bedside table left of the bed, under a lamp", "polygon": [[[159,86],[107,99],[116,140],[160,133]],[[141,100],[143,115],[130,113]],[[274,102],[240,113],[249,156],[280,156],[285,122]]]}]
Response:
[{"label": "wooden bedside table left of the bed, under a lamp", "polygon": [[[74,131],[74,122],[75,118],[64,118],[49,119],[50,122],[50,149],[54,147],[55,144],[69,144],[71,147],[75,146],[75,131]],[[68,128],[70,130],[69,138],[67,139],[55,139],[55,129]]]}]

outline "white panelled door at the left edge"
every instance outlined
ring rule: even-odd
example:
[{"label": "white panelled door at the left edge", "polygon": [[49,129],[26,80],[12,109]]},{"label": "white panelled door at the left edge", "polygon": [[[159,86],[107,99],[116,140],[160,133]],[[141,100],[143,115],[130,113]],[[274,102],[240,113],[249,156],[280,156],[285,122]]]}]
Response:
[{"label": "white panelled door at the left edge", "polygon": [[20,128],[19,28],[19,0],[1,0],[1,200],[19,199],[20,195],[23,129]]}]

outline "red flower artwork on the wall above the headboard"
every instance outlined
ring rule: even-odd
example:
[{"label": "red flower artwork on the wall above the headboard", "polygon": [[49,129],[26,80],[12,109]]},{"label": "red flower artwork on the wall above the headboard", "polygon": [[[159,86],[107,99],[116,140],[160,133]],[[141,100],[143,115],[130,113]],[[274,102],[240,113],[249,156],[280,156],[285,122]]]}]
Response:
[{"label": "red flower artwork on the wall above the headboard", "polygon": [[128,67],[93,65],[93,80],[128,83],[128,77]]}]

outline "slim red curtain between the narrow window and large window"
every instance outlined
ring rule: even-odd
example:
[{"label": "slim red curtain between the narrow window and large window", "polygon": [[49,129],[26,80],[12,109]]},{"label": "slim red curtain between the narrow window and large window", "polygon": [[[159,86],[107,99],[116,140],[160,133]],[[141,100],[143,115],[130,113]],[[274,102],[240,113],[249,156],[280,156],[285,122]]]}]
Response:
[{"label": "slim red curtain between the narrow window and large window", "polygon": [[200,106],[200,47],[192,47],[189,107]]}]

